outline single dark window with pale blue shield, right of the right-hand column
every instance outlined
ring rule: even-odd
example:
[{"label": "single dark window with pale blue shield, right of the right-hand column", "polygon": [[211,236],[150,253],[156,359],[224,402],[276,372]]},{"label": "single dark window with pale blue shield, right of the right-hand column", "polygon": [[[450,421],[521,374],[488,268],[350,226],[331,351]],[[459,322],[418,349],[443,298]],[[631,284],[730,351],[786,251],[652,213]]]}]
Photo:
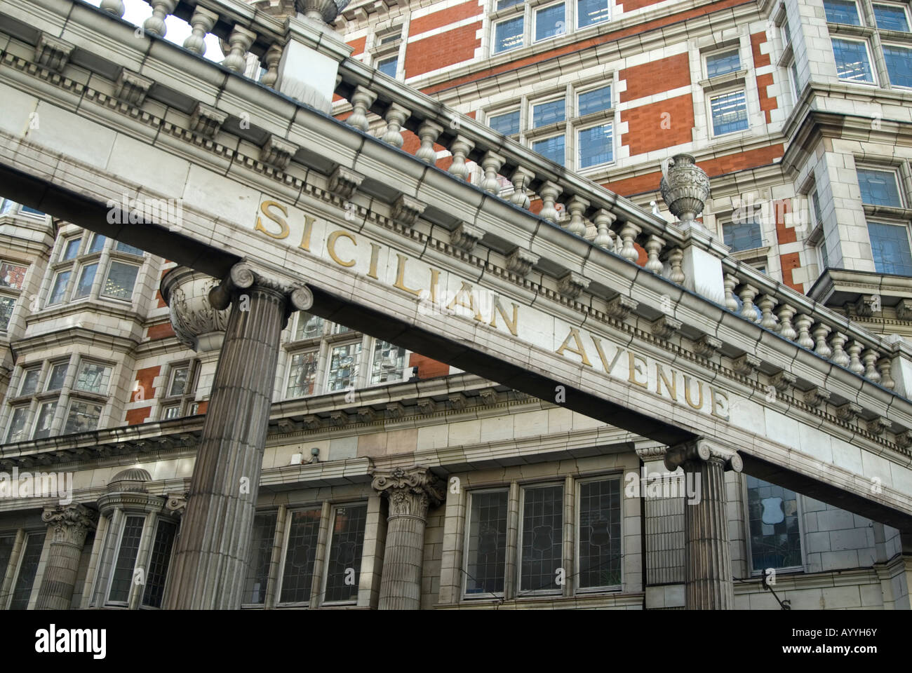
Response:
[{"label": "single dark window with pale blue shield, right of the right-hand column", "polygon": [[747,506],[753,569],[801,565],[798,498],[795,493],[749,476]]}]

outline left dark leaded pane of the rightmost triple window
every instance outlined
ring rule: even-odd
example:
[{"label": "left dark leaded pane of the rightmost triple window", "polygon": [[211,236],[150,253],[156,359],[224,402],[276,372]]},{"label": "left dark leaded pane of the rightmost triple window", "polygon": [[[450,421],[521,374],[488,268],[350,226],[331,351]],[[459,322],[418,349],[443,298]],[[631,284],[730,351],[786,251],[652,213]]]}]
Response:
[{"label": "left dark leaded pane of the rightmost triple window", "polygon": [[507,492],[472,493],[466,595],[503,593],[507,558]]}]

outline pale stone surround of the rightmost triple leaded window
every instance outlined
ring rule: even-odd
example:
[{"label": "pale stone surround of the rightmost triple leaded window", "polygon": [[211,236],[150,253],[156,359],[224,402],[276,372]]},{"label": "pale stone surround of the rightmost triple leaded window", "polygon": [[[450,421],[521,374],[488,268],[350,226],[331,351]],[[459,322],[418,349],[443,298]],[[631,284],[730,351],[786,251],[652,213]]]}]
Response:
[{"label": "pale stone surround of the rightmost triple leaded window", "polygon": [[[624,497],[624,471],[601,471],[597,473],[581,473],[577,475],[566,475],[563,478],[561,477],[546,477],[546,478],[537,478],[537,479],[527,479],[527,480],[514,480],[507,483],[497,484],[486,484],[479,486],[478,488],[472,487],[471,489],[466,490],[466,497],[464,504],[461,507],[461,528],[462,528],[462,540],[461,540],[461,564],[459,567],[460,578],[460,590],[459,590],[459,600],[461,602],[475,602],[483,600],[492,600],[492,598],[498,598],[503,600],[503,593],[498,593],[492,595],[491,593],[477,594],[477,595],[467,595],[465,593],[466,588],[466,578],[467,578],[467,564],[468,564],[468,555],[466,550],[469,548],[469,516],[471,513],[470,498],[473,492],[493,492],[493,491],[503,491],[507,490],[509,495],[507,497],[507,548],[506,548],[506,563],[507,568],[504,575],[504,589],[508,592],[512,598],[511,599],[523,599],[523,598],[535,598],[535,597],[560,597],[561,595],[591,595],[591,594],[617,594],[623,593],[626,583],[626,574],[624,570],[624,537],[626,534],[624,519],[626,518],[624,508],[625,501],[627,498]],[[575,586],[575,577],[579,574],[579,493],[580,493],[580,484],[585,483],[586,481],[600,481],[608,479],[617,479],[620,481],[620,492],[621,492],[621,513],[620,513],[620,528],[621,528],[621,584],[618,586],[610,587],[594,587],[594,588],[585,588],[580,589]],[[573,573],[566,573],[565,578],[565,589],[555,589],[555,590],[537,590],[537,591],[520,591],[521,583],[521,564],[522,564],[522,528],[523,528],[523,493],[526,488],[530,487],[542,487],[542,486],[564,486],[564,512],[566,513],[568,508],[572,508],[573,511],[573,551],[572,559],[564,559],[566,564],[567,560],[571,561],[567,567],[573,568]],[[634,499],[637,500],[637,499]],[[571,504],[572,502],[572,504]],[[566,527],[567,522],[564,521],[564,528]],[[448,527],[449,528],[449,527]],[[513,537],[511,529],[515,529],[515,544],[511,544],[510,541]],[[562,531],[561,541],[565,546],[565,554],[567,554],[567,541]],[[510,569],[513,569],[513,572],[510,572]],[[508,586],[509,584],[509,586]],[[567,587],[574,587],[574,593],[569,594]]]}]

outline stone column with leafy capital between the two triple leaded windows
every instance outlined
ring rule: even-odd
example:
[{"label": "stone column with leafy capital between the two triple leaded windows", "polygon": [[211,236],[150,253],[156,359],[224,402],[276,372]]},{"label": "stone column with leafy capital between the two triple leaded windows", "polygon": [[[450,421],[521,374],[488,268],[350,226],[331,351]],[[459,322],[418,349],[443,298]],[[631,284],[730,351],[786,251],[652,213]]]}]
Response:
[{"label": "stone column with leafy capital between the two triple leaded windows", "polygon": [[375,471],[372,486],[389,499],[378,609],[417,610],[428,507],[440,504],[443,492],[437,477],[421,465]]}]

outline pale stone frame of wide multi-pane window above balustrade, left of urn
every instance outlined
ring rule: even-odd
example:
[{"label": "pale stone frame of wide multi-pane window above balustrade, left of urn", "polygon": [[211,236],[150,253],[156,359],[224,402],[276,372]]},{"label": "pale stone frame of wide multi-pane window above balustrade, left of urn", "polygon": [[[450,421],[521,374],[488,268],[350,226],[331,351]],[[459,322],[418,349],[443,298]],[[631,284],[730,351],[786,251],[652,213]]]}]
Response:
[{"label": "pale stone frame of wide multi-pane window above balustrade, left of urn", "polygon": [[[580,94],[585,94],[596,88],[602,87],[611,87],[611,107],[596,112],[590,112],[582,116],[577,115],[577,97]],[[571,170],[576,170],[576,172],[580,173],[581,175],[587,175],[593,172],[605,171],[607,167],[613,166],[617,163],[618,119],[616,118],[618,117],[619,113],[617,113],[617,101],[615,98],[616,95],[617,92],[615,90],[615,78],[613,77],[613,74],[609,78],[605,78],[605,75],[590,77],[577,82],[568,83],[561,88],[553,88],[545,93],[535,92],[523,95],[518,99],[514,98],[507,103],[498,103],[496,107],[483,110],[483,121],[487,122],[492,117],[497,117],[499,115],[503,115],[519,109],[520,131],[518,134],[514,133],[513,135],[508,136],[509,138],[517,140],[518,142],[531,149],[533,141],[547,140],[554,136],[563,134],[565,137],[564,165]],[[533,129],[533,107],[535,105],[551,102],[560,98],[564,98],[564,121],[554,122],[553,124],[548,124],[546,126]],[[579,164],[579,152],[577,151],[579,131],[600,126],[605,123],[610,123],[612,129],[612,160],[606,163],[599,163],[594,166],[589,166],[585,169],[574,169],[574,167]],[[508,181],[504,183],[504,188],[506,193],[513,192],[513,186]],[[563,204],[555,203],[554,207],[558,212],[562,212]]]}]

